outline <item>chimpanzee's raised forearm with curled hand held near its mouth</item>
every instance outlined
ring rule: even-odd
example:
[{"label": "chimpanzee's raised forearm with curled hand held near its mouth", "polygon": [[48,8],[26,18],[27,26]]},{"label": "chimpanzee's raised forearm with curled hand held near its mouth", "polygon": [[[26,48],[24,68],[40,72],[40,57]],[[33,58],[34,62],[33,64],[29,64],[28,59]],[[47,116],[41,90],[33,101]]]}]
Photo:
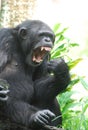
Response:
[{"label": "chimpanzee's raised forearm with curled hand held near its mouth", "polygon": [[58,87],[58,93],[65,90],[70,83],[69,68],[65,61],[51,60],[48,63],[48,71],[54,73],[54,85]]}]

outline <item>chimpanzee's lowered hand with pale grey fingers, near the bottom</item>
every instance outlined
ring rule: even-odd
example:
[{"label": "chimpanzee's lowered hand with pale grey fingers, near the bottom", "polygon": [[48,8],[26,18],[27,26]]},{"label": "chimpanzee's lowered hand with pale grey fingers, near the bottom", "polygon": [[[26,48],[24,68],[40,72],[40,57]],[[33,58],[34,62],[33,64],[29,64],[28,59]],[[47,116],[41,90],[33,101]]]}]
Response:
[{"label": "chimpanzee's lowered hand with pale grey fingers, near the bottom", "polygon": [[30,126],[48,125],[54,117],[55,114],[50,110],[40,110],[31,116],[29,124]]}]

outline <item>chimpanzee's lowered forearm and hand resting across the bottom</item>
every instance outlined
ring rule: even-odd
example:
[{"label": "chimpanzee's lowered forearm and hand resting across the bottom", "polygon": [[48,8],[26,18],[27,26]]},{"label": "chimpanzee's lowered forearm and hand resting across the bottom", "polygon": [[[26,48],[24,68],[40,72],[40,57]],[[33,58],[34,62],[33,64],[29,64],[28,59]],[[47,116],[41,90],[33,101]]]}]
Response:
[{"label": "chimpanzee's lowered forearm and hand resting across the bottom", "polygon": [[35,128],[48,125],[55,115],[49,110],[38,110],[38,108],[25,102],[16,101],[9,104],[9,118],[11,121],[29,127]]}]

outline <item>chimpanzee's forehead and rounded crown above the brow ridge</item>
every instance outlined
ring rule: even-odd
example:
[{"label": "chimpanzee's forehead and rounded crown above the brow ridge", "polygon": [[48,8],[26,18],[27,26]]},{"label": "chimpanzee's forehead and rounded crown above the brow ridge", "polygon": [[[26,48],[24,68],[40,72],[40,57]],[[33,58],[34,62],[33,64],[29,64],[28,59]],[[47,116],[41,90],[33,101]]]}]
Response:
[{"label": "chimpanzee's forehead and rounded crown above the brow ridge", "polygon": [[22,27],[26,28],[30,35],[49,34],[50,36],[54,36],[52,29],[40,20],[26,20],[18,25],[18,28]]}]

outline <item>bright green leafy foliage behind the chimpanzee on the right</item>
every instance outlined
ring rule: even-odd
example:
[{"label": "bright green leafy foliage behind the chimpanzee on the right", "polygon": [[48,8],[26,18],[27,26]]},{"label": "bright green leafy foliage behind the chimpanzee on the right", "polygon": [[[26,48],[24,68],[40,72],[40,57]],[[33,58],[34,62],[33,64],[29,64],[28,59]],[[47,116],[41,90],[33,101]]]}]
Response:
[{"label": "bright green leafy foliage behind the chimpanzee on the right", "polygon": [[[64,93],[57,96],[60,103],[62,116],[63,116],[63,128],[65,130],[87,130],[88,118],[85,116],[88,107],[88,97],[80,97],[79,100],[72,98],[77,91],[73,90],[74,86],[79,87],[79,83],[88,91],[88,84],[84,81],[83,77],[79,77],[76,73],[72,73],[72,69],[82,60],[81,58],[72,59],[70,57],[71,49],[79,46],[77,43],[72,43],[70,39],[65,37],[65,32],[68,28],[61,29],[61,24],[54,26],[54,32],[56,35],[55,46],[51,52],[51,58],[63,57],[70,69],[71,83]],[[80,89],[80,88],[79,88]],[[56,117],[56,119],[59,117]]]}]

